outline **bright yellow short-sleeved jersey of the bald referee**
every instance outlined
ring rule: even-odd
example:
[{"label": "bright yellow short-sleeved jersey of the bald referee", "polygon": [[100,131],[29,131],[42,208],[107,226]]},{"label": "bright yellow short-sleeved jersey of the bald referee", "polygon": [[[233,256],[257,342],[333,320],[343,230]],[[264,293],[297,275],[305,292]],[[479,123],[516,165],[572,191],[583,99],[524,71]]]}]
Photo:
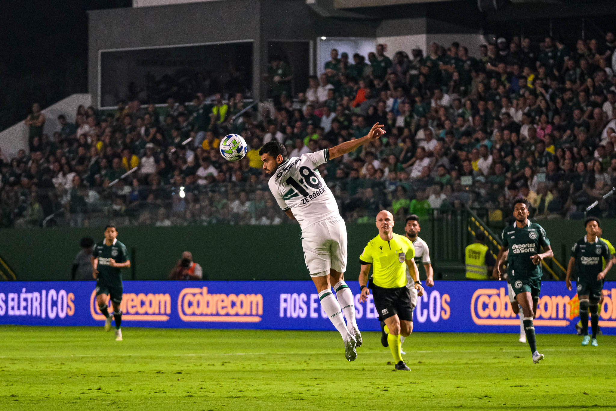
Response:
[{"label": "bright yellow short-sleeved jersey of the bald referee", "polygon": [[372,264],[373,283],[383,288],[400,288],[407,285],[407,259],[415,258],[413,243],[403,235],[393,233],[386,241],[377,235],[363,249],[359,259]]}]

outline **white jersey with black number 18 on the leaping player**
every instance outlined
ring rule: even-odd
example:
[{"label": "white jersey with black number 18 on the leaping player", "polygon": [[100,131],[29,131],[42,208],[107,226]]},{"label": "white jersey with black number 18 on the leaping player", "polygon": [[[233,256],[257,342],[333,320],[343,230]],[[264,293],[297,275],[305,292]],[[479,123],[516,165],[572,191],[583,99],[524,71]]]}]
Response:
[{"label": "white jersey with black number 18 on the leaping player", "polygon": [[317,170],[329,157],[327,149],[291,157],[278,166],[269,180],[278,205],[282,210],[291,209],[302,230],[340,215],[333,193]]}]

